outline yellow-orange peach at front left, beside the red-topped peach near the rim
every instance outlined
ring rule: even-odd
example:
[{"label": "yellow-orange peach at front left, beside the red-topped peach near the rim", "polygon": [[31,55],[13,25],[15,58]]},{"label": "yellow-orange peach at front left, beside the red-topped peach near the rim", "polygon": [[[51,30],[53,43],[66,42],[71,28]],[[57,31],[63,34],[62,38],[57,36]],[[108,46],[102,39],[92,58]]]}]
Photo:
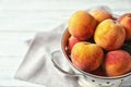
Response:
[{"label": "yellow-orange peach at front left, beside the red-topped peach near the rim", "polygon": [[100,47],[86,41],[78,42],[71,51],[72,63],[85,72],[97,70],[103,61],[104,52]]}]

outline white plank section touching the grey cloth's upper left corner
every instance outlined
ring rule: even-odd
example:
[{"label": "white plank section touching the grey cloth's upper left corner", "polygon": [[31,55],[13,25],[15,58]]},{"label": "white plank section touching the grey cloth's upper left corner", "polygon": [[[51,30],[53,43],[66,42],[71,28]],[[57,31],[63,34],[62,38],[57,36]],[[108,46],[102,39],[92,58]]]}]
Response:
[{"label": "white plank section touching the grey cloth's upper left corner", "polygon": [[0,33],[0,57],[19,57],[28,48],[26,41],[33,39],[35,33]]}]

